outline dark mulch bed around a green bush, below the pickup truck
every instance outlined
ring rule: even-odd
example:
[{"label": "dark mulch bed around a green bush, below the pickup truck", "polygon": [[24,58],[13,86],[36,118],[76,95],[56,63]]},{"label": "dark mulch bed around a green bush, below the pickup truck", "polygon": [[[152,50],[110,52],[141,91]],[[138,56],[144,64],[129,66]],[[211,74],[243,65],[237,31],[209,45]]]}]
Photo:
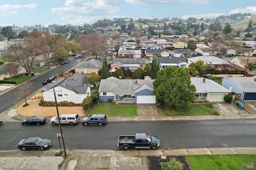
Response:
[{"label": "dark mulch bed around a green bush, below the pickup truck", "polygon": [[162,170],[160,162],[168,162],[173,157],[183,164],[183,170],[191,170],[185,156],[166,156],[166,159],[162,159],[161,156],[148,156],[148,170]]}]

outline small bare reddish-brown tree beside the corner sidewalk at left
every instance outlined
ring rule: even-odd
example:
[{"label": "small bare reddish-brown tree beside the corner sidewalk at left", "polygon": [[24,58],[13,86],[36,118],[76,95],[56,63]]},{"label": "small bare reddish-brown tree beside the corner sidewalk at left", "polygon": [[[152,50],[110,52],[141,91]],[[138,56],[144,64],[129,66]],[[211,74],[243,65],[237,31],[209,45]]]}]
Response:
[{"label": "small bare reddish-brown tree beside the corner sidewalk at left", "polygon": [[32,82],[24,83],[18,88],[17,94],[17,101],[21,101],[22,99],[25,99],[25,103],[27,104],[27,97],[29,97],[32,94]]}]

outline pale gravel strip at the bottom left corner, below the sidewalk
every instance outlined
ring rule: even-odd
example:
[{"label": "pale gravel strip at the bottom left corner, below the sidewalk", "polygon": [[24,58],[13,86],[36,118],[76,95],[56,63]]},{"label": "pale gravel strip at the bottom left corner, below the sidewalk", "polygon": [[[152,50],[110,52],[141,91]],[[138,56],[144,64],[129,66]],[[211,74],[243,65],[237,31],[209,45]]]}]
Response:
[{"label": "pale gravel strip at the bottom left corner, below the sidewalk", "polygon": [[0,169],[33,168],[34,170],[58,170],[58,165],[61,164],[63,160],[64,158],[62,156],[0,157]]}]

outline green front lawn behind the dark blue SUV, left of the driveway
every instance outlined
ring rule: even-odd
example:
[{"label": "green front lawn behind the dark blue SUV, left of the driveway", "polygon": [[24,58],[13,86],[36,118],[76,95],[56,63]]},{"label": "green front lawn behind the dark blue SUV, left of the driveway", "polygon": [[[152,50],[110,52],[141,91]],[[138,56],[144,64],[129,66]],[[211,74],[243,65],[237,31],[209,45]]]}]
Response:
[{"label": "green front lawn behind the dark blue SUV, left of the driveway", "polygon": [[137,107],[134,106],[117,106],[112,104],[94,104],[89,111],[89,115],[103,113],[105,115],[116,116],[137,116]]}]

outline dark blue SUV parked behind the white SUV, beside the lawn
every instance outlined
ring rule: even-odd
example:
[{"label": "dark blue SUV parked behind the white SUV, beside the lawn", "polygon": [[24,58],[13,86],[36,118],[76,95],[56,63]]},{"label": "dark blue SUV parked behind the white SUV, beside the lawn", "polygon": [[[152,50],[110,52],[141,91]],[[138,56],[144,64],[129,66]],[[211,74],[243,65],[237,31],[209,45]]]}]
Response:
[{"label": "dark blue SUV parked behind the white SUV, beside the lawn", "polygon": [[108,119],[107,116],[104,114],[94,114],[91,116],[86,116],[83,118],[82,120],[82,124],[84,126],[87,125],[103,125],[105,123],[107,123]]}]

